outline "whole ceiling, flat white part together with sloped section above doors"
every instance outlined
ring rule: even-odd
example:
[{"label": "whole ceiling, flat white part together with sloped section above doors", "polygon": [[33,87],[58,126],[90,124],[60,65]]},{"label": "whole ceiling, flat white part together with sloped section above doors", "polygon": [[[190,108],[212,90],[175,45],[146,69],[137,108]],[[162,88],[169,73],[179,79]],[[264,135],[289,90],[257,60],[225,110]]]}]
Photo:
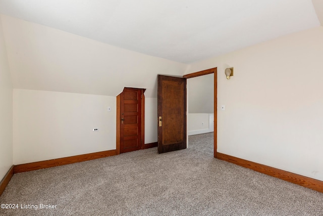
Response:
[{"label": "whole ceiling, flat white part together with sloped section above doors", "polygon": [[313,3],[0,0],[0,13],[15,89],[156,97],[157,74],[319,26]]}]

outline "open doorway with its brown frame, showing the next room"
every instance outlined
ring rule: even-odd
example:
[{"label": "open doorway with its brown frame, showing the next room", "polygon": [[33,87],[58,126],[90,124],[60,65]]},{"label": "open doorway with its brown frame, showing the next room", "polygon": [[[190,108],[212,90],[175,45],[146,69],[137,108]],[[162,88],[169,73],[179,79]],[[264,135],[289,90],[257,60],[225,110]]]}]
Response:
[{"label": "open doorway with its brown frame, showing the next room", "polygon": [[[213,139],[213,156],[217,157],[217,68],[187,74],[183,77],[189,79],[187,80],[187,134],[192,135],[191,140],[194,142],[204,139],[206,143],[211,143],[209,139]],[[189,139],[188,137],[188,141]]]}]

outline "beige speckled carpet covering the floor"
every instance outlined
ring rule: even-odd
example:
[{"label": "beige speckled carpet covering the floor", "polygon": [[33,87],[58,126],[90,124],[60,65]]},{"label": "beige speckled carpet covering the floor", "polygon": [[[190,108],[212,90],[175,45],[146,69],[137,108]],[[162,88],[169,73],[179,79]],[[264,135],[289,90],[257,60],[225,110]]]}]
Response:
[{"label": "beige speckled carpet covering the floor", "polygon": [[323,215],[323,193],[215,159],[212,140],[15,174],[0,215]]}]

